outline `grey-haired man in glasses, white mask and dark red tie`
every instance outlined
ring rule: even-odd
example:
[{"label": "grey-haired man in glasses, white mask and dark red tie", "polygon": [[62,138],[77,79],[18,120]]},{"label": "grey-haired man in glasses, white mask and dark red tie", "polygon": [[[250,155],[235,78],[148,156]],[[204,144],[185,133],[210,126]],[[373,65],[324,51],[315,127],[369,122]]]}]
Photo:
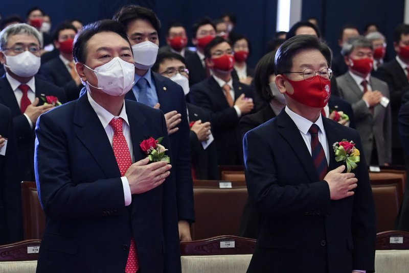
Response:
[{"label": "grey-haired man in glasses, white mask and dark red tie", "polygon": [[12,24],[0,33],[0,62],[6,74],[0,78],[0,103],[10,108],[18,139],[22,180],[34,181],[34,127],[40,114],[54,108],[46,96],[65,102],[64,90],[38,79],[40,34],[25,23]]}]

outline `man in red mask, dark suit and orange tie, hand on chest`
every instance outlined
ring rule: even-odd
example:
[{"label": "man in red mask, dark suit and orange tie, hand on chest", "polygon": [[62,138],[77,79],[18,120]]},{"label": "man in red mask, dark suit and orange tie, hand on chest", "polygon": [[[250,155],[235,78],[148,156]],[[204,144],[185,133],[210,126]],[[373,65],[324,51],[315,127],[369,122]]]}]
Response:
[{"label": "man in red mask, dark suit and orange tie, hand on chest", "polygon": [[241,164],[240,117],[254,108],[248,85],[232,78],[232,46],[216,37],[205,49],[206,64],[212,76],[190,88],[191,103],[210,110],[219,165]]}]

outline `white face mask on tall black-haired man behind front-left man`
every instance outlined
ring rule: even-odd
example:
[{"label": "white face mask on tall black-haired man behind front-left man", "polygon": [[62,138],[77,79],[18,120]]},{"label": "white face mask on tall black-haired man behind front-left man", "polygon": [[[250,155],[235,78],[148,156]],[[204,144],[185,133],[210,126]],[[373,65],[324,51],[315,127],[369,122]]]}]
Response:
[{"label": "white face mask on tall black-haired man behind front-left man", "polygon": [[149,69],[156,61],[159,46],[150,41],[132,45],[133,59],[135,67],[139,69]]}]

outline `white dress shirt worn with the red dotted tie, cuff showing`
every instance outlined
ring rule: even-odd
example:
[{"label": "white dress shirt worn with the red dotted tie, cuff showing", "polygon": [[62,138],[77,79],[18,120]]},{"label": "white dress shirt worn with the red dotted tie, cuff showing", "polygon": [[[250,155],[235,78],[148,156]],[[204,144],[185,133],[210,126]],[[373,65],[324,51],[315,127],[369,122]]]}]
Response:
[{"label": "white dress shirt worn with the red dotted tie, cuff showing", "polygon": [[[133,147],[132,147],[132,139],[131,139],[131,132],[129,128],[129,121],[128,121],[128,116],[126,114],[126,109],[125,109],[125,102],[124,106],[122,107],[121,113],[119,116],[114,116],[111,113],[109,113],[105,108],[100,106],[94,99],[91,97],[89,91],[86,92],[89,104],[91,107],[94,109],[95,113],[97,113],[99,120],[101,121],[102,126],[105,129],[106,136],[109,139],[109,143],[112,146],[112,140],[113,140],[113,128],[109,125],[109,122],[112,120],[112,118],[120,118],[125,122],[122,122],[122,132],[125,136],[126,142],[128,143],[129,147],[129,153],[132,158],[132,163],[133,163]],[[121,177],[122,180],[122,186],[124,188],[124,197],[125,197],[125,206],[128,206],[131,204],[132,201],[132,196],[131,196],[131,190],[129,187],[128,179],[126,177]]]}]

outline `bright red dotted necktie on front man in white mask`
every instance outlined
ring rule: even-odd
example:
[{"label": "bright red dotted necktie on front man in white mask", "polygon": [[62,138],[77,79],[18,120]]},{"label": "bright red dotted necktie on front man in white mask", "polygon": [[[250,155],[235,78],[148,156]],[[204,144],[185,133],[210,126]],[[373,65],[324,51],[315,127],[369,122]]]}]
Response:
[{"label": "bright red dotted necktie on front man in white mask", "polygon": [[[128,143],[122,132],[122,118],[112,118],[109,125],[113,128],[112,148],[113,154],[117,159],[118,167],[121,176],[125,175],[129,166],[132,165],[131,154],[129,153]],[[139,269],[139,261],[137,255],[137,248],[135,247],[135,240],[131,239],[129,247],[128,261],[126,262],[125,273],[135,273]]]}]

